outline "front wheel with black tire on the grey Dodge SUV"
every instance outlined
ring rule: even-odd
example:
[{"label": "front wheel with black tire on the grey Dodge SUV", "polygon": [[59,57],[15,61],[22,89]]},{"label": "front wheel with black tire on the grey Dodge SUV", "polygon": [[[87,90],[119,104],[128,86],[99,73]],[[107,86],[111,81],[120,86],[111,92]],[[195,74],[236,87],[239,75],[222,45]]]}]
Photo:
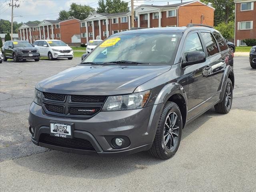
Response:
[{"label": "front wheel with black tire on the grey Dodge SUV", "polygon": [[[168,116],[172,114],[176,114],[177,118],[173,126],[170,118],[169,119],[170,126],[168,126],[169,124]],[[178,126],[178,130],[177,130],[177,126]],[[171,135],[174,134],[174,132],[176,132],[175,134],[178,134],[178,136],[172,137]],[[160,115],[160,119],[159,119],[157,130],[156,130],[156,136],[152,144],[152,147],[149,150],[150,154],[159,159],[171,158],[172,156],[174,156],[174,154],[178,150],[178,147],[180,145],[180,140],[181,140],[181,134],[182,134],[182,115],[180,112],[180,108],[176,103],[168,101],[164,105],[164,108]],[[168,137],[169,137],[169,140],[167,140]],[[166,144],[165,144],[165,140],[167,140]],[[173,146],[172,146],[172,141],[173,141]],[[168,148],[169,145],[170,147]]]}]

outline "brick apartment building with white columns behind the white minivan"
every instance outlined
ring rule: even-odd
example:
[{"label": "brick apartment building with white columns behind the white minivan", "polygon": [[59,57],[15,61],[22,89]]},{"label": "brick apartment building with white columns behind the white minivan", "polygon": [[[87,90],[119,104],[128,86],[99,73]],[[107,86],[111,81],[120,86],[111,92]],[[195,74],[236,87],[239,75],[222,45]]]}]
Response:
[{"label": "brick apartment building with white columns behind the white minivan", "polygon": [[38,25],[22,24],[18,28],[20,40],[33,43],[39,39],[58,39],[67,44],[72,43],[72,36],[80,35],[80,20],[43,20]]}]

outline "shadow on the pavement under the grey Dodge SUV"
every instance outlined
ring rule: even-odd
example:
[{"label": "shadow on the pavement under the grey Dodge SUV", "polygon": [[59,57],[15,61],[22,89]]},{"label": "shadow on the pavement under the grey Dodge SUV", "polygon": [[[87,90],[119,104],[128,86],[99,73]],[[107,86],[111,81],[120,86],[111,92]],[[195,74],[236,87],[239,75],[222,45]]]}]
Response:
[{"label": "shadow on the pavement under the grey Dodge SUV", "polygon": [[[192,121],[183,129],[182,140],[193,134],[195,130],[200,128],[210,118],[219,115],[214,112],[214,109],[208,110],[208,112]],[[182,148],[179,148],[179,150],[182,150]],[[136,170],[148,169],[155,164],[162,164],[165,161],[179,161],[179,158],[176,154],[176,156],[169,160],[159,160],[150,156],[148,152],[140,152],[129,156],[102,157],[47,150],[43,153],[13,160],[19,166],[40,174],[94,179],[115,178],[118,175]]]}]

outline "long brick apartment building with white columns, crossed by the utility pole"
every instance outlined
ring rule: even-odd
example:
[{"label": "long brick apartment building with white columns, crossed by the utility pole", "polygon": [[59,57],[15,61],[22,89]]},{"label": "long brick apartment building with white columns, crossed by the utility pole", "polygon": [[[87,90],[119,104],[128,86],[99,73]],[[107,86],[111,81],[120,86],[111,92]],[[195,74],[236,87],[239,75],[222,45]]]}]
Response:
[{"label": "long brick apartment building with white columns, crossed by the utility pole", "polygon": [[[188,23],[214,24],[214,8],[200,1],[165,6],[141,5],[134,9],[134,27],[186,26]],[[95,13],[80,21],[81,43],[105,39],[111,34],[131,28],[131,12]]]}]

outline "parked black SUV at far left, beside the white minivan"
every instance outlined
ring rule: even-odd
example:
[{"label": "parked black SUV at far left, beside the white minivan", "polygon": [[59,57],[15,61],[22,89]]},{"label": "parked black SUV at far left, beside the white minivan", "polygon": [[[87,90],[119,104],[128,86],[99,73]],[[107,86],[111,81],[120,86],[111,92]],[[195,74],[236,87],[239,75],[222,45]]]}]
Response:
[{"label": "parked black SUV at far left, beside the white minivan", "polygon": [[2,52],[4,61],[7,61],[8,58],[13,59],[14,62],[27,59],[40,60],[37,48],[27,41],[6,41],[2,46]]}]

